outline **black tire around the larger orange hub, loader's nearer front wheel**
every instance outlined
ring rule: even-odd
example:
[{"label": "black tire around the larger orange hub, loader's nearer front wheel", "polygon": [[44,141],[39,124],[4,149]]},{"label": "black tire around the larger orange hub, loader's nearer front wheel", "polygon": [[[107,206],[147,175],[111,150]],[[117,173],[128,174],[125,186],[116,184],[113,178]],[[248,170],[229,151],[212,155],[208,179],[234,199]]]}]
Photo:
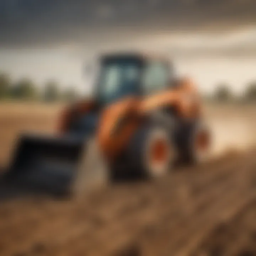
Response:
[{"label": "black tire around the larger orange hub, loader's nearer front wheel", "polygon": [[[156,167],[150,165],[147,159],[148,145],[157,137],[165,139],[170,150],[166,163],[158,166],[158,170],[156,170]],[[144,178],[164,176],[171,169],[171,150],[172,143],[170,141],[170,135],[164,127],[149,125],[140,128],[131,139],[127,151],[127,159],[131,171],[133,174]]]}]

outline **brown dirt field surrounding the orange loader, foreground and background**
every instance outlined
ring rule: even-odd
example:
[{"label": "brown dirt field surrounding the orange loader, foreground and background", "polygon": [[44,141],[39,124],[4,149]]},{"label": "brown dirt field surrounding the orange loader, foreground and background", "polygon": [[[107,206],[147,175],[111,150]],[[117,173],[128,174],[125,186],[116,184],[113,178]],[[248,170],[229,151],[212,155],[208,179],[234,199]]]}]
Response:
[{"label": "brown dirt field surrounding the orange loader, foreground and background", "polygon": [[[59,106],[22,107],[0,106],[3,165],[19,130],[56,126]],[[256,107],[207,106],[206,113],[213,155],[233,153],[79,199],[0,196],[0,255],[256,255],[256,151],[235,153],[256,142]]]}]

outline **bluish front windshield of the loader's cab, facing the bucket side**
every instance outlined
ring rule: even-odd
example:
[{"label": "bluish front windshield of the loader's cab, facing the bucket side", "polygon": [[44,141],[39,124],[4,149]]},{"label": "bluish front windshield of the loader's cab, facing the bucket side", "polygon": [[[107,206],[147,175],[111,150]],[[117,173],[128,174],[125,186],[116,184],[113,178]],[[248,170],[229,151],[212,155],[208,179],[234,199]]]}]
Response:
[{"label": "bluish front windshield of the loader's cab, facing the bucket side", "polygon": [[102,63],[98,101],[108,104],[138,93],[139,63],[134,60],[108,60]]}]

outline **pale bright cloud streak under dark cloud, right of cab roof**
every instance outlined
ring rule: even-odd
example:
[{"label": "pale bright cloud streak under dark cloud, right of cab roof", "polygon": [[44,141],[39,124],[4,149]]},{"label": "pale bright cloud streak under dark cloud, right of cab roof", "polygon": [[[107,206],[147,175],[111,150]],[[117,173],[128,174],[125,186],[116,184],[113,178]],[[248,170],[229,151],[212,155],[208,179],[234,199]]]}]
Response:
[{"label": "pale bright cloud streak under dark cloud, right of cab roof", "polygon": [[181,57],[256,57],[256,26],[219,33],[159,34],[142,43]]}]

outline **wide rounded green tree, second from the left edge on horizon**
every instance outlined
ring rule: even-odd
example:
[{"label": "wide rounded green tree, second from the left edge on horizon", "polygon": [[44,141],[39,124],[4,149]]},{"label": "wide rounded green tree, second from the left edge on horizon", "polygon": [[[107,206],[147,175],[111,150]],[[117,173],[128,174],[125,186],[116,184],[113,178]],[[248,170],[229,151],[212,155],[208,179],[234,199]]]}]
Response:
[{"label": "wide rounded green tree, second from the left edge on horizon", "polygon": [[30,79],[21,79],[12,87],[11,97],[19,100],[34,100],[38,97],[36,85]]}]

